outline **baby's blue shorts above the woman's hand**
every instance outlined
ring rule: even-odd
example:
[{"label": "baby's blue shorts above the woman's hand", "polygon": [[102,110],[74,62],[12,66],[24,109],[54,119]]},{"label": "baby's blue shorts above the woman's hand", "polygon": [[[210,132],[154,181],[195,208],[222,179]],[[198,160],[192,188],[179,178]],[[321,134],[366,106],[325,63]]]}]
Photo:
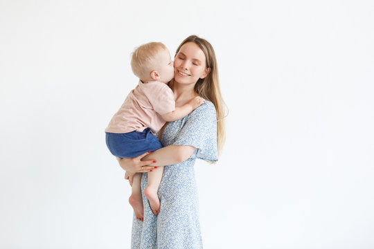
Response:
[{"label": "baby's blue shorts above the woman's hand", "polygon": [[150,128],[141,132],[106,132],[105,140],[109,151],[118,158],[132,158],[162,148],[161,142],[151,133]]}]

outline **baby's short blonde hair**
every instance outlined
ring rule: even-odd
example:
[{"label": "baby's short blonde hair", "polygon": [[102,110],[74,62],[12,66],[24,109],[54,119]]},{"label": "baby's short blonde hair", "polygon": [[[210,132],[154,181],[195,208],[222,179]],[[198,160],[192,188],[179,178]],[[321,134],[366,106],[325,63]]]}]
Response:
[{"label": "baby's short blonde hair", "polygon": [[134,75],[139,79],[148,77],[156,66],[153,60],[161,49],[167,49],[161,42],[149,42],[135,48],[131,58],[131,68]]}]

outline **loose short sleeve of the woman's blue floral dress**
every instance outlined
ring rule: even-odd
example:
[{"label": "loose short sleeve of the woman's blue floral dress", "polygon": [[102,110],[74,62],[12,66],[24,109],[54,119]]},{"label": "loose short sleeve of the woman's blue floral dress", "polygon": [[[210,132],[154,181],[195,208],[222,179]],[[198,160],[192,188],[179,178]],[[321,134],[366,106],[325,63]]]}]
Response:
[{"label": "loose short sleeve of the woman's blue floral dress", "polygon": [[217,114],[212,102],[206,101],[186,117],[186,122],[172,145],[190,145],[196,148],[190,158],[216,162]]}]

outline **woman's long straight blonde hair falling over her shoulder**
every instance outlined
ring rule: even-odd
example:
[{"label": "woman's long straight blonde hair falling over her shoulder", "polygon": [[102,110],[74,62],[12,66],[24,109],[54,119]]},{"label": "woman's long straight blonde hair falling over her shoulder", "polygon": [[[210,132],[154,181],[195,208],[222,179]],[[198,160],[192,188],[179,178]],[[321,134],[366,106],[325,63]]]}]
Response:
[{"label": "woman's long straight blonde hair falling over her shoulder", "polygon": [[[211,101],[215,106],[217,112],[217,150],[218,155],[222,154],[224,142],[226,141],[226,124],[225,118],[228,110],[222,98],[220,90],[220,80],[218,78],[217,59],[213,46],[206,41],[206,39],[190,35],[177,48],[176,54],[181,49],[181,46],[187,42],[194,42],[204,52],[206,57],[206,67],[211,68],[211,72],[204,79],[197,80],[195,84],[195,91],[200,97]],[[172,83],[172,82],[171,82]]]}]

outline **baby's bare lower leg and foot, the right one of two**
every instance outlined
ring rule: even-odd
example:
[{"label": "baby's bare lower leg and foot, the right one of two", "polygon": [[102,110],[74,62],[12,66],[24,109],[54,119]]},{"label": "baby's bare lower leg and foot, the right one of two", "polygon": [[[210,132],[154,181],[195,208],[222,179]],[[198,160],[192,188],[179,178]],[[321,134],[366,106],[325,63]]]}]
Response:
[{"label": "baby's bare lower leg and foot, the right one of two", "polygon": [[157,196],[157,191],[161,183],[162,173],[163,167],[157,167],[157,169],[153,169],[152,172],[148,172],[148,186],[145,187],[144,190],[144,195],[147,196],[148,201],[150,201],[150,208],[154,215],[160,212],[160,200],[159,196]]}]

